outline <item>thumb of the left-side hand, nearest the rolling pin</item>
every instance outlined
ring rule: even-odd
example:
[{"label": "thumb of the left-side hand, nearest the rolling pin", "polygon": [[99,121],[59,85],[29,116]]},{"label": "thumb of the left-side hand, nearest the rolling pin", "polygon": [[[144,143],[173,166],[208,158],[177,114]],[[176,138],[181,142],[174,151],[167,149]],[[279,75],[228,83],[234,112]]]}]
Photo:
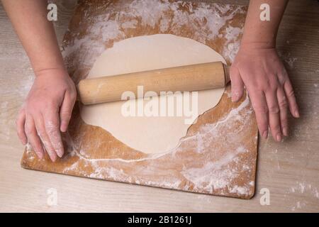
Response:
[{"label": "thumb of the left-side hand, nearest the rolling pin", "polygon": [[65,99],[63,99],[62,106],[60,108],[60,131],[66,132],[69,125],[69,119],[72,115],[73,106],[75,103],[75,95],[65,93]]}]

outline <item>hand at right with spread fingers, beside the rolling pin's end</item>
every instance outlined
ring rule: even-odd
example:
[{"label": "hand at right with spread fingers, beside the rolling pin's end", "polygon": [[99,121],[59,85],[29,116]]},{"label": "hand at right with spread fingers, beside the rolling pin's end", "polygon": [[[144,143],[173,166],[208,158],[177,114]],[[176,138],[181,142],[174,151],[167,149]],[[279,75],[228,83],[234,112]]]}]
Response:
[{"label": "hand at right with spread fingers, beside the rolling pin's end", "polygon": [[232,99],[238,101],[244,85],[252,101],[259,133],[267,138],[268,128],[276,141],[288,135],[288,109],[299,117],[289,76],[274,48],[242,44],[230,68]]}]

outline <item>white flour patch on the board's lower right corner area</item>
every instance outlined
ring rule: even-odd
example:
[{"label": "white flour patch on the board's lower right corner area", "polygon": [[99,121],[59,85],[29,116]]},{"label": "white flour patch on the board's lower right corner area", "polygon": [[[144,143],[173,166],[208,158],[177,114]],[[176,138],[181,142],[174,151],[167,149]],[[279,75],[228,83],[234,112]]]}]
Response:
[{"label": "white flour patch on the board's lower right corner area", "polygon": [[[206,151],[205,149],[210,149],[211,153],[213,153],[214,150],[218,150],[218,145],[216,145],[216,137],[218,136],[226,137],[226,140],[228,140],[229,137],[233,143],[233,150],[228,150],[228,153],[225,153],[221,156],[220,154],[216,153],[216,161],[207,162],[206,165],[200,168],[186,168],[183,170],[183,172],[181,172],[186,179],[194,183],[195,187],[206,189],[211,192],[216,189],[222,189],[222,191],[225,192],[229,190],[229,192],[237,194],[248,194],[250,192],[251,184],[253,184],[252,182],[250,182],[249,185],[244,185],[241,187],[236,185],[234,188],[229,188],[229,185],[231,182],[233,182],[233,180],[236,179],[239,172],[252,171],[247,165],[242,165],[241,170],[236,170],[231,167],[233,162],[237,163],[240,160],[238,155],[247,152],[247,148],[241,145],[240,142],[237,142],[237,131],[230,133],[230,135],[220,134],[223,132],[223,127],[225,127],[226,121],[230,126],[236,121],[244,121],[245,125],[245,121],[248,120],[248,115],[245,116],[244,114],[241,118],[238,116],[240,116],[239,113],[242,111],[242,109],[247,108],[248,104],[249,99],[248,96],[246,96],[245,101],[243,101],[242,104],[240,104],[240,106],[238,106],[236,109],[232,109],[227,116],[220,119],[216,123],[202,126],[195,135],[183,139],[184,141],[196,141],[198,153],[204,153]],[[238,129],[238,131],[240,130],[241,129]],[[179,152],[179,150],[176,152]]]}]

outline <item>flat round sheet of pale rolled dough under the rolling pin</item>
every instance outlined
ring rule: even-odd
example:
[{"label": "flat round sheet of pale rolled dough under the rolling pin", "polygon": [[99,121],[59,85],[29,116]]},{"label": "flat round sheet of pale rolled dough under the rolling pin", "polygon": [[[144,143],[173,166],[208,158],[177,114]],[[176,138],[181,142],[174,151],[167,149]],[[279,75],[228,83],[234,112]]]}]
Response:
[{"label": "flat round sheet of pale rolled dough under the rolling pin", "polygon": [[[195,40],[169,34],[146,35],[121,40],[113,48],[105,50],[87,78],[213,61],[225,63],[218,52]],[[225,88],[198,92],[198,115],[216,106],[224,91]],[[189,117],[125,117],[121,114],[124,102],[81,106],[82,119],[85,123],[105,129],[130,148],[143,153],[173,150],[186,135],[190,125],[185,124],[184,119]]]}]

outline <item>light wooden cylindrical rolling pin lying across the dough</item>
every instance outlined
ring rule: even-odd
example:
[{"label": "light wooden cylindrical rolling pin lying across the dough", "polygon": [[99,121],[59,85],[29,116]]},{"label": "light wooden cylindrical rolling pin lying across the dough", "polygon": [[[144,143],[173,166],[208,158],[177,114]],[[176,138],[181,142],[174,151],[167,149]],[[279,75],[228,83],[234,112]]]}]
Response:
[{"label": "light wooden cylindrical rolling pin lying across the dough", "polygon": [[159,70],[132,72],[107,77],[82,79],[78,84],[82,104],[120,101],[123,92],[138,97],[138,86],[148,92],[194,92],[225,87],[230,81],[228,67],[223,62],[207,62]]}]

